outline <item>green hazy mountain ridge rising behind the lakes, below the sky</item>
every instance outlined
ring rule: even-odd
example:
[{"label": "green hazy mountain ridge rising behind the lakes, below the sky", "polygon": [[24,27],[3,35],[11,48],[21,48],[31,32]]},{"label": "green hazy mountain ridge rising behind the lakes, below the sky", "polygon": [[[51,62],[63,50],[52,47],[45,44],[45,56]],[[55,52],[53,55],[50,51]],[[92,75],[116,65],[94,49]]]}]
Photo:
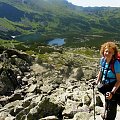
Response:
[{"label": "green hazy mountain ridge rising behind the lakes, below the sky", "polygon": [[0,9],[0,18],[9,24],[0,24],[8,30],[1,29],[6,36],[40,33],[54,38],[76,33],[120,33],[120,8],[79,7],[66,0],[0,0]]}]

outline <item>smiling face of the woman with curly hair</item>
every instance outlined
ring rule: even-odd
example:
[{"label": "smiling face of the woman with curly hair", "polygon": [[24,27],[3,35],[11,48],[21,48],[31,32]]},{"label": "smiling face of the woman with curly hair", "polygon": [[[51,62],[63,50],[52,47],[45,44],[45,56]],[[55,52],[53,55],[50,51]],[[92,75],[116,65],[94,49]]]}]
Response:
[{"label": "smiling face of the woman with curly hair", "polygon": [[105,50],[104,50],[104,57],[105,58],[108,58],[108,59],[111,59],[112,56],[114,55],[114,50],[112,47],[105,47]]}]

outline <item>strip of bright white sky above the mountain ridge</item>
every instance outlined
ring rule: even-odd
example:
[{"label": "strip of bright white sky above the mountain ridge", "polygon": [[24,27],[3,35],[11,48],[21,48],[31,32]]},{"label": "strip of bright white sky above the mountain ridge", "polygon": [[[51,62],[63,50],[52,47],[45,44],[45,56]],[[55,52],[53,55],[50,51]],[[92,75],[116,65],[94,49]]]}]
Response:
[{"label": "strip of bright white sky above the mountain ridge", "polygon": [[67,0],[74,5],[83,7],[94,7],[94,6],[110,6],[110,7],[120,7],[120,0]]}]

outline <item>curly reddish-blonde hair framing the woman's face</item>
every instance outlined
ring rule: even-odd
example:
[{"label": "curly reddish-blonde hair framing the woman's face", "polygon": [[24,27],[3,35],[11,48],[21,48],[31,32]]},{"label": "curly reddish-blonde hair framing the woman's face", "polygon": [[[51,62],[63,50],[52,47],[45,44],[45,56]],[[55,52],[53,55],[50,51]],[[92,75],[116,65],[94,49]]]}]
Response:
[{"label": "curly reddish-blonde hair framing the woman's face", "polygon": [[114,50],[113,57],[116,58],[118,54],[118,46],[114,42],[106,42],[103,45],[101,45],[100,54],[104,56],[104,50],[106,47],[111,47]]}]

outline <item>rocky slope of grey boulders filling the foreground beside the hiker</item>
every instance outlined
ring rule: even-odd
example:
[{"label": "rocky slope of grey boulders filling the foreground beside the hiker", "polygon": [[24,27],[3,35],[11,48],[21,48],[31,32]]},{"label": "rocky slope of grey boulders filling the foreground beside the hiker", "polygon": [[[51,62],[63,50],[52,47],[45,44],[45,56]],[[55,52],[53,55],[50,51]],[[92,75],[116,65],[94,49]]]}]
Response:
[{"label": "rocky slope of grey boulders filling the foreground beside the hiker", "polygon": [[48,59],[2,49],[0,120],[93,120],[94,103],[95,117],[102,120],[104,97],[91,85],[99,59],[71,49],[52,52]]}]

